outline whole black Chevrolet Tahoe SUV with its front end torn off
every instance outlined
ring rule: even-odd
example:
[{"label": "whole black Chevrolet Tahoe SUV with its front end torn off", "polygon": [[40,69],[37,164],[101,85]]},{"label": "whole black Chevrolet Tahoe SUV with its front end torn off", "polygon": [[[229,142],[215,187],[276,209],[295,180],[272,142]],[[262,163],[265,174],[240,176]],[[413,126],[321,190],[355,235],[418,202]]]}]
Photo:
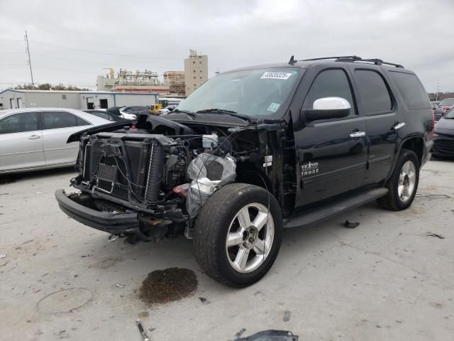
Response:
[{"label": "whole black Chevrolet Tahoe SUV with its front end torn off", "polygon": [[284,227],[371,200],[409,207],[432,134],[426,91],[402,65],[292,57],[216,75],[165,116],[70,136],[79,192],[55,196],[111,237],[193,239],[206,274],[248,286]]}]

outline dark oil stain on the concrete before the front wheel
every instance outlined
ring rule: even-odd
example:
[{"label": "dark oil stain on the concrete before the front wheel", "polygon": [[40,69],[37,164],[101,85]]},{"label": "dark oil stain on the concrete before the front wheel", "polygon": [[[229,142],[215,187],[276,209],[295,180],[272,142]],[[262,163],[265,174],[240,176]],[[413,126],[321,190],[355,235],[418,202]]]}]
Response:
[{"label": "dark oil stain on the concrete before the front wheel", "polygon": [[148,305],[181,300],[197,288],[194,271],[169,268],[150,272],[140,286],[139,297]]}]

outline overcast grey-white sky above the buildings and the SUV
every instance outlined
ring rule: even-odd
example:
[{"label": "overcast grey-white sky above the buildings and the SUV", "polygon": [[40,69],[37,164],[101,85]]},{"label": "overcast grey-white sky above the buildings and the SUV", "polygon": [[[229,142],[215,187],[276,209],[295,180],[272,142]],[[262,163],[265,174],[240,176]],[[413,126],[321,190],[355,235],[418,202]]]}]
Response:
[{"label": "overcast grey-white sky above the buildings and the SUV", "polygon": [[183,70],[189,48],[216,70],[331,55],[403,64],[454,91],[454,0],[0,0],[0,89],[96,87],[103,67]]}]

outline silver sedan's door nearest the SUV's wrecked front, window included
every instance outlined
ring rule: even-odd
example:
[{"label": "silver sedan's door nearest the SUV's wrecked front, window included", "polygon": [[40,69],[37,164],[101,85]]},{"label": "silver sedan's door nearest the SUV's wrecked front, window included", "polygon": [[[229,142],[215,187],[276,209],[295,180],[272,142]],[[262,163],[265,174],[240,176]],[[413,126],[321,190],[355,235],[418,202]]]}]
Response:
[{"label": "silver sedan's door nearest the SUV's wrecked front, window included", "polygon": [[45,164],[75,163],[79,143],[66,141],[71,134],[88,128],[89,121],[65,111],[45,111],[43,114],[43,148]]}]

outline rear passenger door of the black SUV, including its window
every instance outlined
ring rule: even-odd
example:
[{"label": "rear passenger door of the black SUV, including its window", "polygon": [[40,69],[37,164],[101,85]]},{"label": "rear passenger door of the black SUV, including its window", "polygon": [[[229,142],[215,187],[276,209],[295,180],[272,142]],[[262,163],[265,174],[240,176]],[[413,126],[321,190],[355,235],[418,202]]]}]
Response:
[{"label": "rear passenger door of the black SUV, including its window", "polygon": [[404,117],[399,114],[397,102],[381,67],[365,67],[355,63],[348,66],[355,82],[358,111],[365,117],[369,151],[363,185],[370,185],[387,177]]}]

